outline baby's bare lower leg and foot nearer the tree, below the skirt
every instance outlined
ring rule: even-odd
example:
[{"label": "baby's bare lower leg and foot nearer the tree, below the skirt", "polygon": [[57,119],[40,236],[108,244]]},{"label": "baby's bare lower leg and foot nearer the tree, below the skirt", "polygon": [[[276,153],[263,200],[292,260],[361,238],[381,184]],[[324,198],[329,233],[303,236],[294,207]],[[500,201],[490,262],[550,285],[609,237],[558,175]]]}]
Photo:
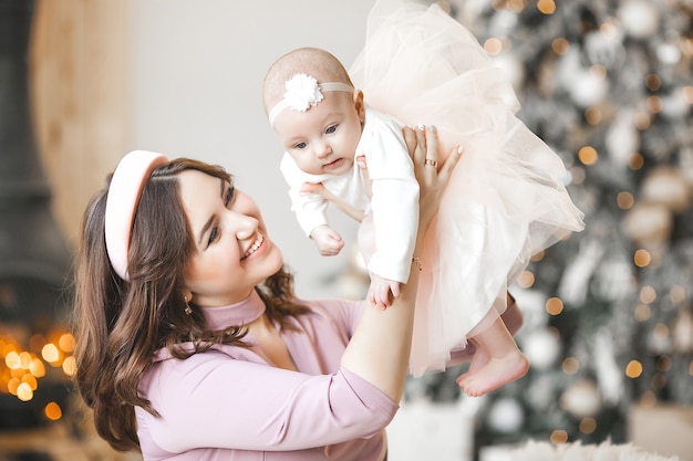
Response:
[{"label": "baby's bare lower leg and foot nearer the tree, below the skirt", "polygon": [[457,384],[468,396],[483,396],[521,378],[529,369],[529,360],[519,350],[500,317],[479,331],[472,340],[476,345],[476,354],[469,371],[457,378]]}]

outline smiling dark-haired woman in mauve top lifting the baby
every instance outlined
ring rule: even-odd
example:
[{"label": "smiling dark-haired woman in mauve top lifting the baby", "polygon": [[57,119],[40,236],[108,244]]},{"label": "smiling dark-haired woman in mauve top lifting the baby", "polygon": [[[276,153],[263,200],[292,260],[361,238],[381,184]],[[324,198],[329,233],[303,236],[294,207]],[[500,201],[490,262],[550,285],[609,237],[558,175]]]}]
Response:
[{"label": "smiling dark-haired woman in mauve top lifting the baby", "polygon": [[[405,137],[423,235],[458,156],[436,171],[435,136]],[[145,460],[383,460],[417,277],[386,311],[298,300],[223,169],[132,153],[84,217],[76,384],[101,437]]]}]

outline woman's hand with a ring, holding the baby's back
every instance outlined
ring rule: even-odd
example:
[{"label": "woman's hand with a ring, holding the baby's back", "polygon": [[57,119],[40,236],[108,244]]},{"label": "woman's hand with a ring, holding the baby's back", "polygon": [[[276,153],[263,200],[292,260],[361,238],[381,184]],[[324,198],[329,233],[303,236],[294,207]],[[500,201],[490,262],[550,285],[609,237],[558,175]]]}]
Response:
[{"label": "woman's hand with a ring, holding the baby's back", "polygon": [[402,129],[410,156],[414,161],[414,174],[418,181],[418,230],[428,223],[438,210],[441,197],[447,186],[453,169],[462,157],[462,147],[451,151],[446,160],[439,160],[438,137],[435,127],[418,126]]}]

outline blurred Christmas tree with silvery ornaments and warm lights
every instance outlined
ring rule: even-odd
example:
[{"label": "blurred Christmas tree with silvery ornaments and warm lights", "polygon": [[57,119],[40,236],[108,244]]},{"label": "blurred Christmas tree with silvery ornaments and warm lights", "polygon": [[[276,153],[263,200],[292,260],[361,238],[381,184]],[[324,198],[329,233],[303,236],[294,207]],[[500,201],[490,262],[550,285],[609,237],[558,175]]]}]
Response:
[{"label": "blurred Christmas tree with silvery ornaments and warm lights", "polygon": [[[476,444],[623,442],[633,406],[693,402],[693,3],[441,4],[508,72],[586,213],[514,286],[531,368],[480,399]],[[407,392],[455,399],[459,373]]]}]

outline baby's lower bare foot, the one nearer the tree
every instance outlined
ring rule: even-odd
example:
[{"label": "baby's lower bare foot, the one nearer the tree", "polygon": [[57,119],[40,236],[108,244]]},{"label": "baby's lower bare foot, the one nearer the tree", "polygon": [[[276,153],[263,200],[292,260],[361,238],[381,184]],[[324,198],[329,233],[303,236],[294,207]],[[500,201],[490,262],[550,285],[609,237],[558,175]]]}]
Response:
[{"label": "baby's lower bare foot, the one nearer the tree", "polygon": [[528,369],[529,360],[520,352],[500,358],[490,357],[483,366],[457,378],[457,385],[469,397],[480,397],[521,378]]}]

